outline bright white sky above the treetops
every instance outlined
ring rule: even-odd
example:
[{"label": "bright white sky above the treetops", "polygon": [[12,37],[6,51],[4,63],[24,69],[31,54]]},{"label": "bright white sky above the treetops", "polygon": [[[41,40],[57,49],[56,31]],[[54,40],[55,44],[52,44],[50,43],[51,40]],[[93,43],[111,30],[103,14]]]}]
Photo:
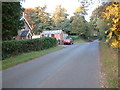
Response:
[{"label": "bright white sky above the treetops", "polygon": [[[85,16],[85,19],[89,21],[92,11],[99,5],[98,0],[93,0],[94,4],[91,4],[88,8],[88,15]],[[36,6],[43,7],[47,5],[46,11],[53,14],[57,5],[61,5],[67,10],[67,13],[72,16],[75,9],[80,6],[78,0],[25,0],[22,3],[24,8],[34,8]]]}]

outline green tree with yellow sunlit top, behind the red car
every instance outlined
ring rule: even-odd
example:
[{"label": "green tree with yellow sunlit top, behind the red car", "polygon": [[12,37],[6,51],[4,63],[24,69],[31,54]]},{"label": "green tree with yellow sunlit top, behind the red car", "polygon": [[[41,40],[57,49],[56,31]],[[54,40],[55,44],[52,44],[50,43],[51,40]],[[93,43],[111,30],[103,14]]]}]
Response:
[{"label": "green tree with yellow sunlit top, behind the red car", "polygon": [[87,38],[87,21],[84,18],[85,9],[83,7],[78,7],[75,10],[74,16],[70,18],[71,20],[71,33],[77,34],[78,36],[84,36]]}]

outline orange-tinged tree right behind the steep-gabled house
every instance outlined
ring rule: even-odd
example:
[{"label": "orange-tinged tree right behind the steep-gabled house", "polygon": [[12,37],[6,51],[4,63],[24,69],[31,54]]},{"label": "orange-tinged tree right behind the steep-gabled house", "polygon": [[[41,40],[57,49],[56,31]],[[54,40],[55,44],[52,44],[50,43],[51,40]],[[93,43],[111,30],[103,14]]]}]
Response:
[{"label": "orange-tinged tree right behind the steep-gabled house", "polygon": [[44,29],[50,30],[52,28],[51,18],[49,17],[50,14],[45,11],[46,8],[47,6],[35,7],[34,9],[28,8],[25,10],[25,17],[32,26],[35,34],[39,34]]}]

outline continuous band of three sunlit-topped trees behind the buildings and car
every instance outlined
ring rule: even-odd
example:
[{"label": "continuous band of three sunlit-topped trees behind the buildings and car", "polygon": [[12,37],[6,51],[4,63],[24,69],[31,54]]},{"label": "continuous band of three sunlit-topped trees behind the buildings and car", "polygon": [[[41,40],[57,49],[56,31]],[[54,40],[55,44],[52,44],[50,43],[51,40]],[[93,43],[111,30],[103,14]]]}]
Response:
[{"label": "continuous band of three sunlit-topped trees behind the buildings and car", "polygon": [[[86,15],[85,7],[78,7],[75,10],[74,16],[70,19],[67,18],[68,14],[66,9],[58,5],[50,18],[50,14],[45,12],[45,7],[36,7],[34,9],[26,9],[25,14],[27,20],[30,22],[35,32],[42,32],[43,30],[49,29],[61,29],[68,34],[83,34],[84,37],[90,36],[90,28],[87,21],[84,18]],[[46,15],[44,15],[46,14]],[[39,33],[38,33],[39,34]]]}]

